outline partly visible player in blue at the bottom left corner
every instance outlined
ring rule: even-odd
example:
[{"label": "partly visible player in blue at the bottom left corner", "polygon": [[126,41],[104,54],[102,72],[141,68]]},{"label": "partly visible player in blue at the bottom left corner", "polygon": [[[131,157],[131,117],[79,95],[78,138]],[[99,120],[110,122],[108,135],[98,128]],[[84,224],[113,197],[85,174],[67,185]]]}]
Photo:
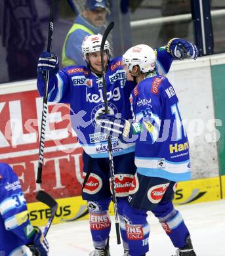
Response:
[{"label": "partly visible player in blue at the bottom left corner", "polygon": [[23,245],[28,246],[33,255],[49,253],[46,238],[28,219],[20,181],[7,163],[0,163],[0,234],[0,255],[27,255]]}]

